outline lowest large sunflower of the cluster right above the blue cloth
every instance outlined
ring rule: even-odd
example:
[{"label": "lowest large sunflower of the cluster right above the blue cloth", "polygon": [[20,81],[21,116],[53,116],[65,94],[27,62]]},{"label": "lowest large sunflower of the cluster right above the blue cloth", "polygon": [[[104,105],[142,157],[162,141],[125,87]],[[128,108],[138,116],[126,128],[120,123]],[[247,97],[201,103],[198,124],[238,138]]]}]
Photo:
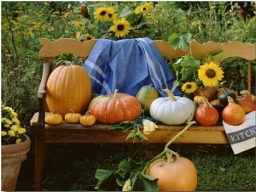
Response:
[{"label": "lowest large sunflower of the cluster right above the blue cloth", "polygon": [[113,25],[110,29],[115,32],[116,37],[124,37],[129,33],[131,26],[128,20],[122,18],[121,20],[113,20]]}]

